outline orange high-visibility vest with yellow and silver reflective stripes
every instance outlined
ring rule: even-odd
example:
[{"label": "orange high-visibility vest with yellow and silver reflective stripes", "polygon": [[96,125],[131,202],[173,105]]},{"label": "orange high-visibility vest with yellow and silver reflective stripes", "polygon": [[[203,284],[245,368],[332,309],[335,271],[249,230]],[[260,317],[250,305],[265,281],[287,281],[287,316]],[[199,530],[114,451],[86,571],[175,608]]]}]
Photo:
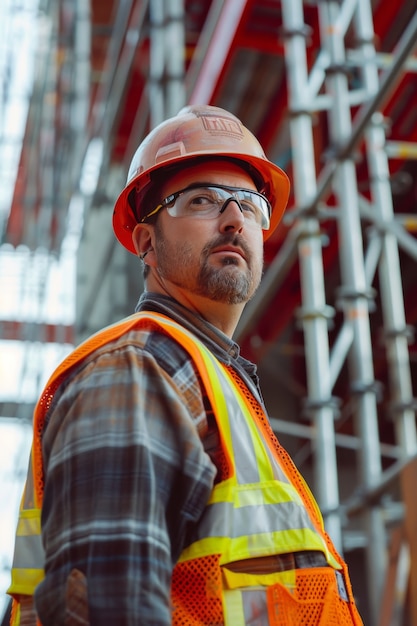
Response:
[{"label": "orange high-visibility vest with yellow and silver reflective stripes", "polygon": [[[97,348],[130,330],[153,327],[189,353],[211,403],[228,465],[216,484],[196,534],[173,570],[172,619],[178,626],[284,626],[303,623],[361,625],[347,567],[324,531],[318,506],[262,407],[192,333],[170,318],[137,313],[81,344],[58,367],[35,409],[31,462],[16,533],[11,624],[39,624],[31,598],[43,578],[40,512],[43,498],[41,439],[52,398],[69,370]],[[240,381],[240,384],[239,384]],[[253,574],[227,565],[247,559],[319,551],[327,567]],[[249,561],[250,562],[250,561]],[[23,618],[22,618],[23,623]]]}]

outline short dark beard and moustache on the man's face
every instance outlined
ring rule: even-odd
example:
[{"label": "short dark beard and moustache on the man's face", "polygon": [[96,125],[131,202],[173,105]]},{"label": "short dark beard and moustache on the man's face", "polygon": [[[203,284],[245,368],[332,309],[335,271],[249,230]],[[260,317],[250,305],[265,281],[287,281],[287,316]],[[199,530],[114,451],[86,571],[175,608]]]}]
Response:
[{"label": "short dark beard and moustache on the man's face", "polygon": [[[252,267],[252,255],[243,238],[236,233],[219,235],[202,250],[197,276],[193,274],[196,261],[192,247],[182,242],[173,247],[167,243],[163,232],[155,225],[157,232],[156,251],[158,272],[161,278],[170,280],[178,287],[187,288],[196,295],[224,304],[241,304],[250,300],[259,285],[261,272],[255,277]],[[222,267],[214,267],[209,257],[215,248],[233,245],[241,248],[245,255],[246,267],[243,269],[238,259],[225,252]]]}]

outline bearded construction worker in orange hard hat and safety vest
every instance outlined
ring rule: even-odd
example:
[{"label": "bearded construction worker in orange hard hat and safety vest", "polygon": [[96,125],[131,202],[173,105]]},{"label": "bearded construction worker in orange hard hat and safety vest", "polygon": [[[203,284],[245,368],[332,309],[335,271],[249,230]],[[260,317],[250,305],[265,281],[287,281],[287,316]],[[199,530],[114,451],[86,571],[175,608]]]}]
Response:
[{"label": "bearded construction worker in orange hard hat and safety vest", "polygon": [[232,339],[288,193],[216,107],[183,109],[139,146],[113,227],[145,292],[37,405],[13,624],[362,623]]}]

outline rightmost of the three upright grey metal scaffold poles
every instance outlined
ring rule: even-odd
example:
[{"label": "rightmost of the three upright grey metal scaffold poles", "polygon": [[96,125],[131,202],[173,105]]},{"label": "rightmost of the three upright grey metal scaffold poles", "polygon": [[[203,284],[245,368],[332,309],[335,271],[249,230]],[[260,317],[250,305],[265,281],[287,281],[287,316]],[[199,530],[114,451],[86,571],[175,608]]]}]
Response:
[{"label": "rightmost of the three upright grey metal scaffold poles", "polygon": [[[369,0],[358,3],[355,24],[358,41],[361,42],[363,58],[375,58],[372,7]],[[379,86],[376,63],[365,63],[360,71],[366,89],[374,95]],[[366,155],[374,210],[381,220],[391,222],[394,218],[394,209],[383,122],[382,115],[374,113],[365,134]],[[413,391],[401,267],[398,242],[394,233],[385,231],[381,237],[382,251],[378,269],[390,376],[391,405],[395,421],[396,442],[401,448],[404,458],[406,458],[416,454],[417,436],[415,415],[412,409]]]}]

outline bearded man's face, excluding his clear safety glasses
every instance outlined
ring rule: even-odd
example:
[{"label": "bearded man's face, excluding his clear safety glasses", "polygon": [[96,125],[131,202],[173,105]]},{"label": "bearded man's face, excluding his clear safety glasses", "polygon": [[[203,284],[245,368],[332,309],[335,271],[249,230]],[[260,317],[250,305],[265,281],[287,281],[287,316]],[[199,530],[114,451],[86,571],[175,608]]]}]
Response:
[{"label": "bearded man's face, excluding his clear safety glasses", "polygon": [[[184,170],[162,186],[161,200],[195,183],[256,191],[251,177],[226,161]],[[155,235],[156,271],[168,293],[171,283],[189,299],[196,295],[240,304],[253,296],[263,268],[262,229],[245,219],[236,202],[209,219],[172,217],[162,209]]]}]

